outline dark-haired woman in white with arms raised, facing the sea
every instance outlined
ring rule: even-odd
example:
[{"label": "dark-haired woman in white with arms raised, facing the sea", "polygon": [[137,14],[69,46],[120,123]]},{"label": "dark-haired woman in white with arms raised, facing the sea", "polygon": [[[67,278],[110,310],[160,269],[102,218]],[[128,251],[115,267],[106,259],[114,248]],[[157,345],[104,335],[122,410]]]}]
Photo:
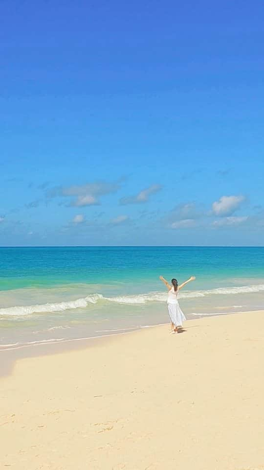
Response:
[{"label": "dark-haired woman in white with arms raised, facing the sea", "polygon": [[183,282],[182,284],[178,285],[178,282],[176,279],[172,279],[172,284],[169,284],[166,279],[164,279],[162,276],[159,276],[159,279],[164,282],[164,284],[167,286],[169,290],[169,295],[168,295],[168,310],[169,310],[169,315],[171,319],[171,333],[176,333],[179,332],[179,330],[182,328],[182,322],[186,320],[184,314],[182,313],[179,303],[178,303],[178,291],[182,289],[182,287],[190,281],[195,280],[195,276],[191,276],[188,281]]}]

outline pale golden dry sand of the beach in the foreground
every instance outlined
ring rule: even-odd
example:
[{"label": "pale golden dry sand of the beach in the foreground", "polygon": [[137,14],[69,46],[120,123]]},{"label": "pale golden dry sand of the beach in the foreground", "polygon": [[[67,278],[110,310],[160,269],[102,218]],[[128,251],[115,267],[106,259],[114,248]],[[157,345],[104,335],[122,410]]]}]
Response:
[{"label": "pale golden dry sand of the beach in the foreground", "polygon": [[0,379],[0,468],[264,469],[264,312],[185,327],[17,361]]}]

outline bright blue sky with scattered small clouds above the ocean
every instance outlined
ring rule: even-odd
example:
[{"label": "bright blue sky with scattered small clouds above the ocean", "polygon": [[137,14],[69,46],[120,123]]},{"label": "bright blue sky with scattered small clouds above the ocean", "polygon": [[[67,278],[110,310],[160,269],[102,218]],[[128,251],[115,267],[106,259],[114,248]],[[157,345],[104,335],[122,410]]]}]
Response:
[{"label": "bright blue sky with scattered small clouds above the ocean", "polygon": [[0,245],[264,245],[263,1],[0,15]]}]

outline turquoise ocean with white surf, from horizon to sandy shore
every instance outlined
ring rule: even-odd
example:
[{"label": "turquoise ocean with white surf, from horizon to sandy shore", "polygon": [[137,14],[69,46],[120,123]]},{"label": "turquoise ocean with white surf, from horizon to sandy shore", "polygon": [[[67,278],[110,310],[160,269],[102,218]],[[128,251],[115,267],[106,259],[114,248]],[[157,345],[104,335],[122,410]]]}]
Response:
[{"label": "turquoise ocean with white surf, from horizon to sandy shore", "polygon": [[166,323],[159,275],[187,318],[264,309],[263,247],[0,248],[0,350]]}]

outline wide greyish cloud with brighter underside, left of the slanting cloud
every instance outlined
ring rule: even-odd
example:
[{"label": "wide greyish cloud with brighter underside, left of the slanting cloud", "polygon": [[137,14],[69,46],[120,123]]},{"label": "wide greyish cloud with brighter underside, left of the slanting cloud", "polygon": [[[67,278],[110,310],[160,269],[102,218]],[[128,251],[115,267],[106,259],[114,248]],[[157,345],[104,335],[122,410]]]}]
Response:
[{"label": "wide greyish cloud with brighter underside, left of the slanting cloud", "polygon": [[107,183],[98,181],[86,185],[72,185],[67,187],[56,187],[46,191],[47,197],[71,198],[70,206],[85,207],[101,204],[100,196],[114,193],[120,188],[120,182]]}]

